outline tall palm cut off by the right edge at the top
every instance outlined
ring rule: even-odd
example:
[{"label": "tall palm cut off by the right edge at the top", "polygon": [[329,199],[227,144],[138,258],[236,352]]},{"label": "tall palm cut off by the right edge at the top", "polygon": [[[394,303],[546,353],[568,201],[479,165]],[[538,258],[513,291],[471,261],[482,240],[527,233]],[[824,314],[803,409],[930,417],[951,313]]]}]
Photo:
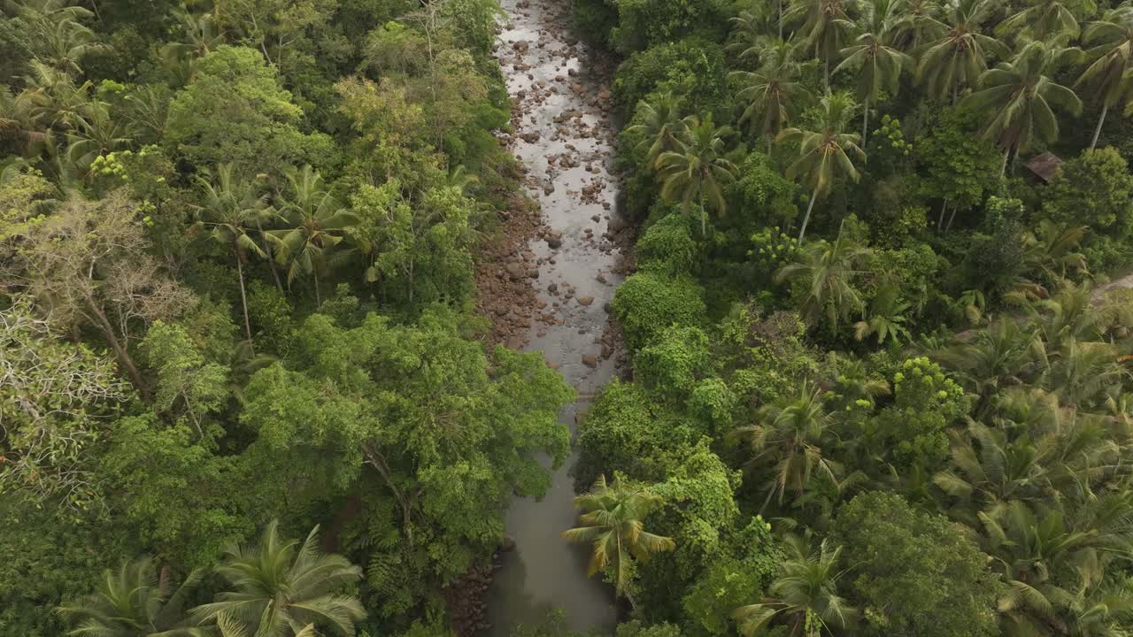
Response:
[{"label": "tall palm cut off by the right edge at the top", "polygon": [[1121,7],[1106,11],[1100,20],[1090,24],[1082,33],[1082,42],[1096,43],[1085,54],[1093,60],[1074,86],[1090,84],[1098,92],[1101,102],[1101,116],[1093,129],[1090,150],[1098,145],[1101,125],[1110,107],[1116,107],[1127,97],[1128,83],[1125,74],[1133,61],[1133,2],[1126,1]]}]

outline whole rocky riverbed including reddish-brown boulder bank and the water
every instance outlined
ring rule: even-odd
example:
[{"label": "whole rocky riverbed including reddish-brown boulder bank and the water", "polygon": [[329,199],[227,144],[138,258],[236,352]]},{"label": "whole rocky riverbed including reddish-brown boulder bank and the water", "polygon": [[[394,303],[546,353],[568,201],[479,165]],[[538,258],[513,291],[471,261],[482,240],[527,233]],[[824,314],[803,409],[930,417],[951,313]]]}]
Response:
[{"label": "whole rocky riverbed including reddish-brown boulder bank and the water", "polygon": [[[529,197],[513,202],[501,239],[482,260],[480,311],[493,323],[493,340],[542,351],[578,390],[561,416],[573,431],[622,357],[610,301],[624,278],[622,248],[633,230],[616,211],[612,68],[571,34],[568,2],[502,5],[496,56],[512,97],[504,142]],[[559,608],[573,628],[612,629],[612,592],[587,577],[585,547],[560,538],[576,521],[572,461],[555,472],[546,498],[518,499],[509,510],[510,545],[491,584],[470,574],[470,588],[487,586],[486,618],[469,617],[465,627],[506,636]]]}]

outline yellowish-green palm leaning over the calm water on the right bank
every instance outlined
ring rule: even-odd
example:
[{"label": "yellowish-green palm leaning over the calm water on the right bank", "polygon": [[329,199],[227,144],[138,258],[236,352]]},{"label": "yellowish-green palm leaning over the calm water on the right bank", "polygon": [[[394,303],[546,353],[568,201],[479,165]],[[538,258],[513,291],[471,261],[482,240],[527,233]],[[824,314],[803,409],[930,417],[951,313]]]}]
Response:
[{"label": "yellowish-green palm leaning over the calm water on the right bank", "polygon": [[562,533],[570,542],[593,545],[589,575],[610,566],[614,591],[634,608],[629,591],[631,557],[644,562],[653,553],[676,547],[671,537],[645,530],[645,518],[661,504],[661,496],[654,493],[628,486],[621,479],[607,485],[606,477],[598,476],[588,493],[574,498],[574,508],[582,511],[579,516],[582,526]]}]

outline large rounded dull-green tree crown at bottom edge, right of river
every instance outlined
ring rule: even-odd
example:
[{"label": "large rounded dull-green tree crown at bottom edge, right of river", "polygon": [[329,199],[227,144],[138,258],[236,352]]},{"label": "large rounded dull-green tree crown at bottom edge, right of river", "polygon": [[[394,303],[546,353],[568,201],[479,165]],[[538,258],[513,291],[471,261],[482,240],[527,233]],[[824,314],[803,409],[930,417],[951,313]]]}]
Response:
[{"label": "large rounded dull-green tree crown at bottom edge, right of river", "polygon": [[959,525],[895,493],[868,492],[838,512],[836,533],[854,560],[849,589],[867,635],[998,635],[1000,584]]}]

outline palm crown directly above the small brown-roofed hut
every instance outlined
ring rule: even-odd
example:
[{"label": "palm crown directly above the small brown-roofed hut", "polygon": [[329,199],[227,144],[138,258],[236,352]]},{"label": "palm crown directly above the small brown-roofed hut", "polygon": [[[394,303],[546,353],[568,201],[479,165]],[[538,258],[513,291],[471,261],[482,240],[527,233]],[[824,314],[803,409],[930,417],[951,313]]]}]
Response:
[{"label": "palm crown directly above the small brown-roofed hut", "polygon": [[995,137],[1004,148],[1002,171],[1007,169],[1012,151],[1017,154],[1036,141],[1058,139],[1058,118],[1051,104],[1073,114],[1082,111],[1082,101],[1074,91],[1053,79],[1063,65],[1081,53],[1076,48],[1031,42],[1012,61],[985,71],[980,76],[981,88],[964,99],[965,108],[991,113],[983,136]]}]

